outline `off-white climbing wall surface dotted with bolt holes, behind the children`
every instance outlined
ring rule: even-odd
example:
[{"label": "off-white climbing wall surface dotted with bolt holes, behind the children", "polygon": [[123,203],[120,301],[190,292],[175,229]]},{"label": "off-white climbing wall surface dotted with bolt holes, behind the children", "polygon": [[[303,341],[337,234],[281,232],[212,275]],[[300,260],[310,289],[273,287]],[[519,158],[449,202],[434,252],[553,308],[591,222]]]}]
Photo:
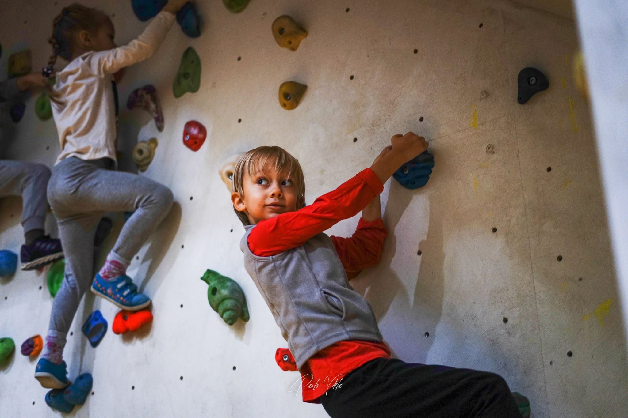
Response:
[{"label": "off-white climbing wall surface dotted with bolt holes, behind the children", "polygon": [[[8,56],[30,48],[45,65],[51,21],[68,1],[23,0],[0,13],[0,76]],[[106,11],[116,42],[146,26],[130,1],[84,1]],[[575,22],[557,1],[535,9],[502,0],[396,2],[251,0],[239,14],[197,2],[202,34],[174,26],[151,60],[119,83],[121,167],[156,137],[153,162],[138,175],[168,185],[175,206],[133,260],[129,273],[153,299],[154,321],[124,336],[109,330],[92,348],[80,327],[99,309],[89,294],[68,336],[71,378],[94,375],[94,394],[77,417],[325,417],[301,402],[300,375],[274,360],[286,347],[242,266],[244,229],[219,169],[229,155],[280,145],[306,176],[306,201],[371,164],[395,133],[430,141],[435,168],[416,191],[395,180],[382,193],[389,231],[381,263],[352,280],[369,300],[395,357],[502,374],[531,400],[533,417],[624,417],[628,368],[612,251],[588,105],[571,76]],[[554,2],[549,2],[554,3]],[[532,7],[529,7],[532,6]],[[273,20],[289,14],[308,31],[297,51],[279,48]],[[202,61],[197,93],[173,96],[183,51]],[[546,91],[517,104],[517,73],[543,71]],[[308,86],[284,110],[284,81]],[[152,84],[165,128],[124,106]],[[54,122],[18,124],[1,111],[4,155],[53,165]],[[197,120],[207,140],[193,152],[183,126]],[[0,201],[0,247],[19,251],[21,200]],[[102,260],[124,222],[114,229]],[[357,217],[328,233],[348,236]],[[47,221],[53,234],[55,222]],[[237,280],[251,320],[229,326],[207,303],[205,269]],[[0,337],[18,351],[0,364],[0,415],[56,416],[33,379],[35,359],[19,344],[45,335],[52,298],[45,271],[0,280]]]}]

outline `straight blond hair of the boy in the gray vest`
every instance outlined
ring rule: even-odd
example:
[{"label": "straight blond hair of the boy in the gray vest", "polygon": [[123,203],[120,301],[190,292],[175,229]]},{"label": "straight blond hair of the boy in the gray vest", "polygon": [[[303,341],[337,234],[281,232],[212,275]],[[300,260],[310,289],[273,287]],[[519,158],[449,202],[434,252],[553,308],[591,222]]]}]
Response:
[{"label": "straight blond hair of the boy in the gray vest", "polygon": [[[278,172],[288,171],[288,175],[296,188],[296,209],[300,209],[305,202],[303,170],[298,160],[281,147],[257,147],[242,155],[236,163],[236,169],[234,169],[232,192],[238,192],[240,196],[244,197],[244,187],[242,187],[244,174],[254,175],[269,167]],[[235,207],[234,211],[242,224],[251,224],[246,213],[236,211]]]}]

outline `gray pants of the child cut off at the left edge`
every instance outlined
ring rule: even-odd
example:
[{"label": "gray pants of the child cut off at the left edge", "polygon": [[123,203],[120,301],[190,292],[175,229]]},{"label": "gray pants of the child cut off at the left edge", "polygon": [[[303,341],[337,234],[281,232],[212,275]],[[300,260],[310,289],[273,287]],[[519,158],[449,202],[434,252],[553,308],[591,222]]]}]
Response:
[{"label": "gray pants of the child cut off at the left edge", "polygon": [[0,160],[0,197],[22,196],[24,234],[33,229],[43,230],[48,210],[48,179],[50,169],[43,164]]}]

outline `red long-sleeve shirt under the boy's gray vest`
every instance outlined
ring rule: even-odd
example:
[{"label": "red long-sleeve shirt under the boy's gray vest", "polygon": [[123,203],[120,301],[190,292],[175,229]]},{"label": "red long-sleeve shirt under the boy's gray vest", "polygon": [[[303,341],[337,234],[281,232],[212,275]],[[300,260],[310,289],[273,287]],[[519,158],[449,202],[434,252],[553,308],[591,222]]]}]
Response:
[{"label": "red long-sleeve shirt under the boy's gray vest", "polygon": [[[300,246],[338,221],[357,214],[382,189],[381,181],[371,169],[362,170],[311,205],[259,222],[247,239],[249,249],[257,256],[273,256]],[[352,278],[379,262],[386,227],[381,219],[367,222],[360,218],[350,238],[330,238],[342,266]],[[391,357],[384,342],[345,340],[323,348],[301,367],[303,402],[320,403],[318,398],[334,390],[333,385],[344,375],[379,357]]]}]

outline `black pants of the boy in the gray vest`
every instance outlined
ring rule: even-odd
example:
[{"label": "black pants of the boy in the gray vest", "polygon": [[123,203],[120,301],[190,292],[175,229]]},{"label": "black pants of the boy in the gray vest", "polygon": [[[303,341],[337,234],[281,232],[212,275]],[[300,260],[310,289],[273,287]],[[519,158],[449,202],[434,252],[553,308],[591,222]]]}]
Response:
[{"label": "black pants of the boy in the gray vest", "polygon": [[364,363],[320,401],[332,418],[521,418],[497,374],[398,358]]}]

